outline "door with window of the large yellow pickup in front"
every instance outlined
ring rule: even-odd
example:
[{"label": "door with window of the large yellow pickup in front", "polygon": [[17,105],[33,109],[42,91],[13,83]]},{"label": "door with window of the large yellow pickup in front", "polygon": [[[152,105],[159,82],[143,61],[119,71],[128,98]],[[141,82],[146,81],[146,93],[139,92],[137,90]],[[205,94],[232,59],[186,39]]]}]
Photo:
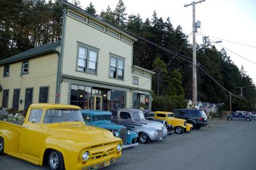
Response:
[{"label": "door with window of the large yellow pickup in front", "polygon": [[42,152],[42,116],[44,110],[41,108],[31,109],[29,118],[26,118],[20,130],[19,152],[39,158]]}]

